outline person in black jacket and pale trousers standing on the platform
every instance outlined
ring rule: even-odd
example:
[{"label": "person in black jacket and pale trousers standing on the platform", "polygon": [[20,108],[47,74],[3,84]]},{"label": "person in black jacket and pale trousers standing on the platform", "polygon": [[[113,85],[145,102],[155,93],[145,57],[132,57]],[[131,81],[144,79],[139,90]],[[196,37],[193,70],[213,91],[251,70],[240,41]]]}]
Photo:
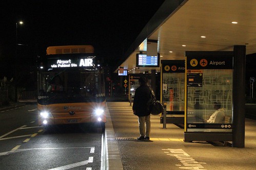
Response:
[{"label": "person in black jacket and pale trousers standing on the platform", "polygon": [[[138,140],[149,139],[150,135],[150,100],[151,89],[146,85],[147,79],[145,77],[139,78],[140,87],[138,87],[134,94],[133,114],[138,116],[139,129],[141,136]],[[146,123],[146,133],[145,133]]]}]

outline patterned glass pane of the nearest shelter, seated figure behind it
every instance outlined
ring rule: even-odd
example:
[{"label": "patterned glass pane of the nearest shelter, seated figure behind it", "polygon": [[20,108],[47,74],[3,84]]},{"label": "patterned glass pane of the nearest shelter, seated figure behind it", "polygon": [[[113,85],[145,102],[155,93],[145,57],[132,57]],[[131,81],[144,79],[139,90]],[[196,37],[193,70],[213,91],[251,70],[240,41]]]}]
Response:
[{"label": "patterned glass pane of the nearest shelter, seated figure behind it", "polygon": [[187,83],[187,131],[231,132],[232,69],[201,71],[196,84]]}]

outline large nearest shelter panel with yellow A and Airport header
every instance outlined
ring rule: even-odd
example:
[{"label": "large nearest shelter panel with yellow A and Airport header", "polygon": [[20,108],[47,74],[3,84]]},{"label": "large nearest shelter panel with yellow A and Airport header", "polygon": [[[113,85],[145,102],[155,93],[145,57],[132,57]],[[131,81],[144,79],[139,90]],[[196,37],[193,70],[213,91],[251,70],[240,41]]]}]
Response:
[{"label": "large nearest shelter panel with yellow A and Airport header", "polygon": [[233,52],[186,52],[185,141],[232,141]]}]

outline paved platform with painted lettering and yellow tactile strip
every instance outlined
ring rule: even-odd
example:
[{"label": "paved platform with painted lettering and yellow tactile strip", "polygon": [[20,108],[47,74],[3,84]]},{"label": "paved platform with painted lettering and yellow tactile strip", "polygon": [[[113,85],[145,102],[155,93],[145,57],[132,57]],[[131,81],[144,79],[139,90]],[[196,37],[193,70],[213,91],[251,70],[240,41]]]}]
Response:
[{"label": "paved platform with painted lettering and yellow tactile strip", "polygon": [[184,142],[184,129],[151,115],[150,140],[140,136],[129,102],[107,102],[108,169],[256,169],[256,122],[245,119],[245,148],[231,142]]}]

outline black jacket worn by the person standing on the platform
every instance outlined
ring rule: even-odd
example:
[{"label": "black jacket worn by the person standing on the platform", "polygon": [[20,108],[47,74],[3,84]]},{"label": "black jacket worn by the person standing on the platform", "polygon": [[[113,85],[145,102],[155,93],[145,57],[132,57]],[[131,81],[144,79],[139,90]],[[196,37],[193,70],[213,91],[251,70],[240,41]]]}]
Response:
[{"label": "black jacket worn by the person standing on the platform", "polygon": [[132,110],[137,116],[147,116],[150,114],[151,89],[147,85],[142,85],[135,90]]}]

